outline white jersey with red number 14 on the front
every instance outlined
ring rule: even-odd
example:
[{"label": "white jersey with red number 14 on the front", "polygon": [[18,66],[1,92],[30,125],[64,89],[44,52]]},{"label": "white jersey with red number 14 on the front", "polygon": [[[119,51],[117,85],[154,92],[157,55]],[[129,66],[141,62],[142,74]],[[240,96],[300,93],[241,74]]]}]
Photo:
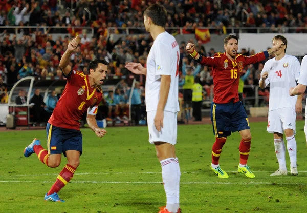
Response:
[{"label": "white jersey with red number 14 on the front", "polygon": [[284,55],[278,61],[268,60],[261,73],[268,72],[266,85],[270,84],[269,111],[284,107],[294,107],[297,96],[291,97],[289,89],[296,86],[300,63],[295,56]]}]

